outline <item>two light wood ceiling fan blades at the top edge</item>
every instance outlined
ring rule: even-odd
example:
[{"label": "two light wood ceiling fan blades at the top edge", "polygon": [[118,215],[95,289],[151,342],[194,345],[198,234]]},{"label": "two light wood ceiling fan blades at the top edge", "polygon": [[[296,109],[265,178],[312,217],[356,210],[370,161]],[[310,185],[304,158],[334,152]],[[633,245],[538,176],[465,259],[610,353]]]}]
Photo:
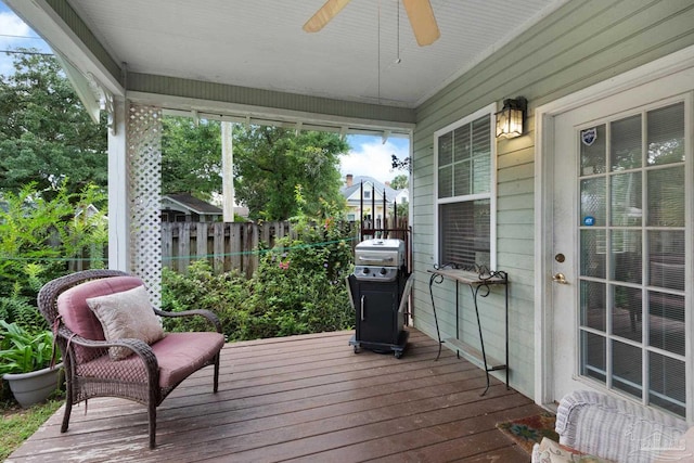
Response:
[{"label": "two light wood ceiling fan blades at the top edge", "polygon": [[[439,37],[438,25],[429,0],[401,0],[420,47],[434,43]],[[318,33],[340,12],[349,0],[327,0],[304,25],[307,33]]]}]

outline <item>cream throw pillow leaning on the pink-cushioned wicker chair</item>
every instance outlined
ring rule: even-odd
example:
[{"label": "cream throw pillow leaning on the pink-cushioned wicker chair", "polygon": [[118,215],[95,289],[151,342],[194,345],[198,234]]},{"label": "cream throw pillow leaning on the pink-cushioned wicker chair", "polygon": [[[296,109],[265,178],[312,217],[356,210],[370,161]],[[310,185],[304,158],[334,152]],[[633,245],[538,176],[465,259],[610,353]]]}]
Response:
[{"label": "cream throw pillow leaning on the pink-cushioned wicker chair", "polygon": [[[150,295],[144,286],[90,297],[87,305],[101,322],[106,340],[137,338],[152,344],[164,337],[164,330],[152,310]],[[108,349],[113,360],[125,359],[131,353],[132,350],[125,347]]]}]

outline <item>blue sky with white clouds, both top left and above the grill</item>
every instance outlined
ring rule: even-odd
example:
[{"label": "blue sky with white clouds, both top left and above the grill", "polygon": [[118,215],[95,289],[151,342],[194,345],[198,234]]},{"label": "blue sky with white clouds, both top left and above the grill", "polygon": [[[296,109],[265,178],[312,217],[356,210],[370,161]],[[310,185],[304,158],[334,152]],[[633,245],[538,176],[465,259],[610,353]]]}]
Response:
[{"label": "blue sky with white clouds, both top left and above the grill", "polygon": [[[8,75],[13,72],[12,55],[4,51],[16,48],[36,48],[41,52],[50,52],[48,44],[0,1],[0,74]],[[343,178],[351,173],[355,177],[369,176],[385,182],[398,175],[407,173],[390,168],[390,156],[395,154],[400,159],[408,157],[408,139],[394,137],[384,143],[381,137],[347,136],[347,142],[350,151],[342,156],[339,168]]]}]

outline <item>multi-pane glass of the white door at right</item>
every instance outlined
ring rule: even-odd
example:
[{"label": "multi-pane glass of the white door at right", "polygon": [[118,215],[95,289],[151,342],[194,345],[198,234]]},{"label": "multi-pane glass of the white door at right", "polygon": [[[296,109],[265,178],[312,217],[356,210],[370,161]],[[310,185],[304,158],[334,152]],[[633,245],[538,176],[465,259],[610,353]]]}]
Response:
[{"label": "multi-pane glass of the white door at right", "polygon": [[580,374],[684,416],[684,103],[578,137]]}]

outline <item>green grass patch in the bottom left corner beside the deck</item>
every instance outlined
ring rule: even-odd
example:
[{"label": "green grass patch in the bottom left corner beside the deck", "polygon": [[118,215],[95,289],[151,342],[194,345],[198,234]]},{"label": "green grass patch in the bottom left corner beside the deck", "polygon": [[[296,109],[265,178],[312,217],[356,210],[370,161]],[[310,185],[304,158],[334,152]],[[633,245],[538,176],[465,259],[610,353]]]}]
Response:
[{"label": "green grass patch in the bottom left corner beside the deck", "polygon": [[64,399],[51,399],[28,409],[0,406],[0,461],[4,461],[27,438],[48,420],[64,402]]}]

